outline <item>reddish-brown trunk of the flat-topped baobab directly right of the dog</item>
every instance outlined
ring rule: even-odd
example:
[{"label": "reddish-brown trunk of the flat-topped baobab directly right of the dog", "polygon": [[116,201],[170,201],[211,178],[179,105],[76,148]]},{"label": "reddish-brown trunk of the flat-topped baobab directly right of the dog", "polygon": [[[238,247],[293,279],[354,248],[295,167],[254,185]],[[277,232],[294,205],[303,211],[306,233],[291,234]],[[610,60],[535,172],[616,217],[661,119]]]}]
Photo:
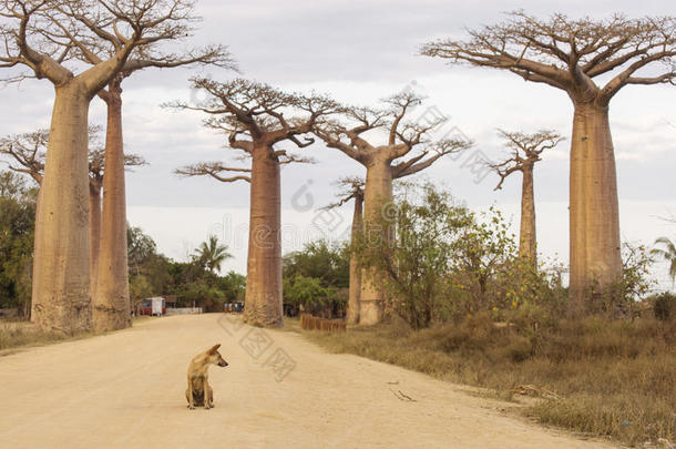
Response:
[{"label": "reddish-brown trunk of the flat-topped baobab directly right of the dog", "polygon": [[283,325],[280,188],[273,150],[254,147],[244,319],[255,326]]}]

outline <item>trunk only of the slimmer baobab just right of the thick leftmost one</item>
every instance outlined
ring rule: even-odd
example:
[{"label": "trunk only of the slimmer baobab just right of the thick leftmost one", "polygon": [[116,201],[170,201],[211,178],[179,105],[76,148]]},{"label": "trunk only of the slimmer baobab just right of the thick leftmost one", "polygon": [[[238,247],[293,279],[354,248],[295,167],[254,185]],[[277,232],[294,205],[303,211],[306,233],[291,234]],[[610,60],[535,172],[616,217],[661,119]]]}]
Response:
[{"label": "trunk only of the slimmer baobab just right of the thick leftmost one", "polygon": [[94,328],[99,331],[122,329],[131,325],[121,94],[119,82],[111,82],[105,99],[107,124],[103,220],[96,289],[93,296]]}]

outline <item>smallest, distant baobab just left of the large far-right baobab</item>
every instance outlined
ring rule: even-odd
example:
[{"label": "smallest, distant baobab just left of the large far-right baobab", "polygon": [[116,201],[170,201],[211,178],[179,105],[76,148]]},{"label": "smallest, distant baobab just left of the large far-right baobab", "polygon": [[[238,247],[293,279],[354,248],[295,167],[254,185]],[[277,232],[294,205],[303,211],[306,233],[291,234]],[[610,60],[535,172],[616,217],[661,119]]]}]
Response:
[{"label": "smallest, distant baobab just left of the large far-right baobab", "polygon": [[533,267],[537,266],[537,238],[535,234],[535,194],[533,191],[533,169],[541,161],[543,151],[553,149],[563,140],[554,131],[542,130],[534,134],[498,130],[511,157],[499,164],[490,164],[500,176],[495,190],[501,190],[504,180],[521,172],[521,227],[519,232],[519,256],[528,258]]}]

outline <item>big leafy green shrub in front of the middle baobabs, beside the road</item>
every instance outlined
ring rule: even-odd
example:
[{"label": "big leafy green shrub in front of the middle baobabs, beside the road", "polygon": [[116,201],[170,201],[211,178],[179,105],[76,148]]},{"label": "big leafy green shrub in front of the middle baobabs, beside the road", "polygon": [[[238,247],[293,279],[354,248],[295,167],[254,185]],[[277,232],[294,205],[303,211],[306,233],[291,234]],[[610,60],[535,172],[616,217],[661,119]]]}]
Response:
[{"label": "big leafy green shrub in front of the middle baobabs, beside the road", "polygon": [[356,253],[363,266],[387,274],[392,309],[413,328],[481,310],[509,319],[520,307],[560,303],[555,279],[518,256],[493,207],[478,216],[426,184],[409,187],[391,211],[396,238],[383,248],[365,235]]}]

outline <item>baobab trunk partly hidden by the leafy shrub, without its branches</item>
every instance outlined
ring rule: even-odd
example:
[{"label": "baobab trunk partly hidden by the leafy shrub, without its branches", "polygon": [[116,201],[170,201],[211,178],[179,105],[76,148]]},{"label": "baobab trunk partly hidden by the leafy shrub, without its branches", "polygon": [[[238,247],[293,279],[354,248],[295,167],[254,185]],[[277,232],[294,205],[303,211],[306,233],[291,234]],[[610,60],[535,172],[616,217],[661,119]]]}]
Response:
[{"label": "baobab trunk partly hidden by the leafy shrub, without its branches", "polygon": [[[387,160],[375,160],[367,166],[363,190],[363,232],[367,245],[380,245],[378,251],[389,251],[393,238],[392,171]],[[383,280],[386,275],[369,267],[361,272],[359,294],[359,324],[380,322],[385,310]]]}]

